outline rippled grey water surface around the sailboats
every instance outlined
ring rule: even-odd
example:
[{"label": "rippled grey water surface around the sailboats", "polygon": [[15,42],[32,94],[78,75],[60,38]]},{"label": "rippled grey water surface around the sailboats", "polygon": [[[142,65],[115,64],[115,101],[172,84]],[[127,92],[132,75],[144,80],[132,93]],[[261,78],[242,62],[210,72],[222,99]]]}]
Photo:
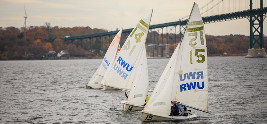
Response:
[{"label": "rippled grey water surface around the sailboats", "polygon": [[[0,123],[142,123],[122,111],[124,92],[85,88],[101,61],[0,61]],[[147,60],[149,89],[168,61]],[[211,114],[174,123],[267,122],[267,58],[208,57],[208,74]]]}]

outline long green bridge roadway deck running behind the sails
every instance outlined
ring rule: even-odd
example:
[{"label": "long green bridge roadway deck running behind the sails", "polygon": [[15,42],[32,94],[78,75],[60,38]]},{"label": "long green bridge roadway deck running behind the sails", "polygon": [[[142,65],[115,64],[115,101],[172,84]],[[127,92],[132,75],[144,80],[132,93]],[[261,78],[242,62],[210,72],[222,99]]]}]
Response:
[{"label": "long green bridge roadway deck running behind the sails", "polygon": [[[258,15],[264,15],[266,17],[267,13],[267,7],[264,7],[262,10],[260,8],[258,9],[253,9],[252,11],[247,10],[247,11],[238,11],[238,12],[233,12],[233,13],[226,13],[226,14],[221,14],[221,15],[215,15],[215,16],[207,16],[207,17],[202,17],[202,20],[204,24],[206,23],[213,23],[213,22],[220,22],[220,21],[228,21],[228,20],[236,20],[236,19],[241,19],[241,18],[248,18],[250,17],[250,13],[252,16],[258,16]],[[164,28],[168,26],[177,26],[177,25],[186,25],[187,20],[183,21],[175,21],[175,22],[169,22],[169,23],[164,23],[164,24],[157,24],[157,25],[150,25],[149,29],[157,29],[157,28]],[[131,33],[131,29],[124,29],[122,33]],[[117,34],[119,31],[110,31],[110,32],[104,32],[104,33],[98,33],[98,34],[90,34],[90,35],[83,35],[83,36],[75,36],[75,37],[69,37],[69,38],[63,38],[64,41],[66,40],[75,40],[75,39],[91,39],[95,37],[103,37],[103,36],[111,36]]]}]

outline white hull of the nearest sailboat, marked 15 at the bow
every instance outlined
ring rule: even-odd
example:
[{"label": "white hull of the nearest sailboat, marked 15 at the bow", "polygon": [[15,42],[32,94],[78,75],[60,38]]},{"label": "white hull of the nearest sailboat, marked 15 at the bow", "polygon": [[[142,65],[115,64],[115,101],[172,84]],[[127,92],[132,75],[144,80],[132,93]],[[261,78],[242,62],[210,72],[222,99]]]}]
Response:
[{"label": "white hull of the nearest sailboat, marked 15 at the bow", "polygon": [[142,121],[167,121],[167,120],[173,120],[173,121],[179,121],[179,120],[188,120],[197,117],[197,115],[188,112],[188,116],[158,116],[153,115],[144,111],[141,111],[142,113]]}]

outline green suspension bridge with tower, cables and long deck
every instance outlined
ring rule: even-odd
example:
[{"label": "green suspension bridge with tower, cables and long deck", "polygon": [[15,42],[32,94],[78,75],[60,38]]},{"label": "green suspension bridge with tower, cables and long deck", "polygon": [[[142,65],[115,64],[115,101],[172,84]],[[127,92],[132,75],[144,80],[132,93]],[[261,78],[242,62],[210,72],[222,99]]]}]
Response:
[{"label": "green suspension bridge with tower, cables and long deck", "polygon": [[[250,22],[250,48],[248,49],[247,57],[267,57],[263,40],[263,21],[267,16],[266,4],[266,0],[265,3],[263,3],[263,0],[211,0],[205,6],[200,7],[199,9],[204,24],[247,18]],[[188,16],[185,16],[180,18],[179,21],[150,25],[147,36],[148,40],[146,43],[162,44],[163,39],[166,39],[167,44],[176,43],[176,39],[180,39],[182,36],[183,30],[188,21],[187,18]],[[133,28],[123,30],[121,41],[124,41],[132,30]],[[108,37],[108,40],[110,41],[117,33],[118,30],[98,34],[68,37],[64,38],[64,41],[80,40],[81,45],[83,45],[84,39],[91,40],[99,38],[101,44],[103,37]],[[161,38],[157,37],[155,33],[161,34]],[[121,43],[121,45],[122,44],[123,43]],[[255,45],[258,45],[260,48],[254,49]]]}]

